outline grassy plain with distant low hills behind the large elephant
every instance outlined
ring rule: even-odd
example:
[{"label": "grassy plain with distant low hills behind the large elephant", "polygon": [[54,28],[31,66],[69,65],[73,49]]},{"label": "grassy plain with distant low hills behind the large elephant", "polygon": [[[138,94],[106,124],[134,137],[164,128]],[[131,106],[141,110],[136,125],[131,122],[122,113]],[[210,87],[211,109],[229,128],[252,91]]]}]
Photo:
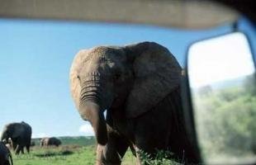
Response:
[{"label": "grassy plain with distant low hills behind the large elephant", "polygon": [[[62,145],[58,148],[40,148],[39,140],[35,147],[31,147],[30,154],[15,155],[12,153],[15,165],[92,165],[96,160],[95,139],[92,137],[61,137]],[[127,152],[123,163],[135,164],[132,153]]]}]

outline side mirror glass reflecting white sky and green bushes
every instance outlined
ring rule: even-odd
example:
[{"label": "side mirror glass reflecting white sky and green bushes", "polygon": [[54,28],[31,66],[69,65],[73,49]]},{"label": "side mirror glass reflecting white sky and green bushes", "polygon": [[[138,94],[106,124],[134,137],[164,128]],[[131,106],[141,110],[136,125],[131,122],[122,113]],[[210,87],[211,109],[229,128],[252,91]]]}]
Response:
[{"label": "side mirror glass reflecting white sky and green bushes", "polygon": [[255,69],[244,34],[197,42],[187,68],[204,161],[256,162]]}]

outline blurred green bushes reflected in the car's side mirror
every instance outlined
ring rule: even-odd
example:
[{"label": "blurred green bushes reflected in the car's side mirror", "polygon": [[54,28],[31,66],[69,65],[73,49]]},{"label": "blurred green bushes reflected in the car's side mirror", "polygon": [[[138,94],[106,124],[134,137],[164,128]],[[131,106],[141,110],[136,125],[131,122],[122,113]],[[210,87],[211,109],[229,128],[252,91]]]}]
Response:
[{"label": "blurred green bushes reflected in the car's side mirror", "polygon": [[256,146],[254,82],[251,75],[238,86],[217,88],[211,95],[193,93],[198,137],[207,158],[252,154]]}]

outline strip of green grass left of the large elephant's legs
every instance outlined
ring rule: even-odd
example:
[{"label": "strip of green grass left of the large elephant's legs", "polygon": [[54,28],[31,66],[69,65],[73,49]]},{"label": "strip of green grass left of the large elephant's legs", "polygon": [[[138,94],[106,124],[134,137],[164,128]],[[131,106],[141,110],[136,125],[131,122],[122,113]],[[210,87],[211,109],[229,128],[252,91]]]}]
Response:
[{"label": "strip of green grass left of the large elephant's legs", "polygon": [[30,154],[13,155],[15,165],[78,165],[95,164],[95,147],[77,147],[72,145],[59,148],[31,148]]}]

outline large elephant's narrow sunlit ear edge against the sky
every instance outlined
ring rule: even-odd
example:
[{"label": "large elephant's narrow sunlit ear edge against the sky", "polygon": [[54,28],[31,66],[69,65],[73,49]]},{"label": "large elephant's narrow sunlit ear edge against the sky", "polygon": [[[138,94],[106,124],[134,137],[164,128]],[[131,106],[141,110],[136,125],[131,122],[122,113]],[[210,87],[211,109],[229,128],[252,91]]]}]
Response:
[{"label": "large elephant's narrow sunlit ear edge against the sky", "polygon": [[78,54],[75,55],[73,63],[69,72],[69,82],[71,95],[73,97],[74,104],[76,108],[79,108],[79,97],[81,92],[81,86],[78,78],[78,73],[83,65],[84,60],[88,56],[88,50],[80,50]]}]

